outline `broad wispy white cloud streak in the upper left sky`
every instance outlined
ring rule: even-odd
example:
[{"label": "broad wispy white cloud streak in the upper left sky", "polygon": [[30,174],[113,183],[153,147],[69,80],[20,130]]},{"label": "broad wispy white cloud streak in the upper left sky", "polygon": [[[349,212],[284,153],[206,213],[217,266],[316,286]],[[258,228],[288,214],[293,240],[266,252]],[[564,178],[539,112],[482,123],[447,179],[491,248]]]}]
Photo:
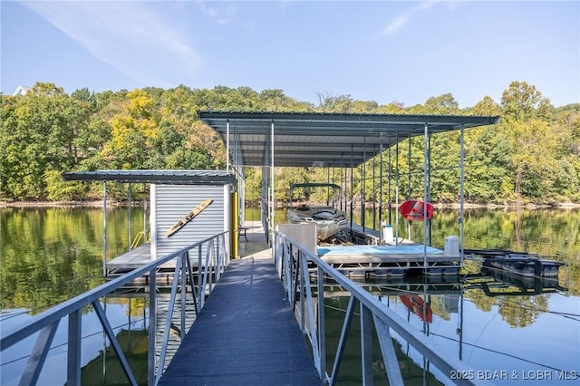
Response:
[{"label": "broad wispy white cloud streak in the upper left sky", "polygon": [[[165,74],[191,77],[202,60],[149,2],[23,2],[94,57],[144,85],[171,85]],[[160,5],[159,3],[157,5]]]}]

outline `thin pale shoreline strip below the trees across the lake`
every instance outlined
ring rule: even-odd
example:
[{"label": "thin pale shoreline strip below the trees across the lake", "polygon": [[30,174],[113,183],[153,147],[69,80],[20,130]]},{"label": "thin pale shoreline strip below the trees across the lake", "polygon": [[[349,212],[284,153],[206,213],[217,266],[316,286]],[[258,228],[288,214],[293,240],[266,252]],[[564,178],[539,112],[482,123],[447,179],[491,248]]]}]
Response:
[{"label": "thin pale shoreline strip below the trees across the lake", "polygon": [[[149,200],[148,200],[149,202]],[[107,207],[127,207],[127,201],[115,201],[107,200]],[[139,207],[142,205],[142,201],[132,201],[131,206]],[[367,202],[367,208],[372,206],[371,202]],[[87,200],[87,201],[0,201],[0,208],[2,207],[102,207],[102,199],[100,200]],[[247,205],[247,207],[259,207],[255,205]],[[284,205],[276,205],[277,208],[285,207]],[[391,207],[395,207],[392,205]],[[434,203],[433,207],[438,209],[457,209],[459,208],[459,203]],[[360,205],[356,205],[355,208],[360,209]],[[464,203],[464,209],[575,209],[580,208],[580,203],[575,202],[562,202],[554,205],[547,204],[473,204]]]}]

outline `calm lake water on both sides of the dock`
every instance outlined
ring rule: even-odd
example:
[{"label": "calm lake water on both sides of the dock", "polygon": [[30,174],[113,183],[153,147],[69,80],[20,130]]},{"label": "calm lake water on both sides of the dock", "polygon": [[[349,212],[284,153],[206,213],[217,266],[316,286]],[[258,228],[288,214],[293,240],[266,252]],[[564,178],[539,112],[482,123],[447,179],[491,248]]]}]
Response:
[{"label": "calm lake water on both sides of the dock", "polygon": [[[129,217],[127,208],[109,209],[107,259],[127,251],[129,240],[143,228],[142,208],[132,208],[131,229]],[[247,211],[247,219],[256,217],[259,212]],[[276,218],[282,221],[284,212]],[[366,227],[373,223],[378,224],[378,218],[366,212]],[[407,236],[409,229],[401,226],[399,232]],[[432,245],[442,247],[446,236],[457,234],[456,211],[436,210]],[[411,236],[420,239],[422,227],[413,225]],[[580,210],[471,209],[466,211],[465,244],[472,249],[536,252],[566,265],[556,281],[482,272],[477,262],[466,262],[459,278],[367,280],[362,285],[426,333],[444,354],[459,356],[476,369],[456,376],[498,384],[516,379],[517,384],[580,383]],[[101,208],[0,208],[1,331],[102,284],[102,253]],[[333,345],[348,299],[340,287],[329,286],[328,291],[333,293],[325,300],[328,342]],[[427,304],[430,314],[425,320],[412,312],[412,302]],[[106,311],[131,353],[131,367],[145,384],[146,299],[110,297]],[[353,331],[356,328],[354,323]],[[108,362],[110,349],[90,310],[83,314],[82,336],[82,383],[122,383],[124,376]],[[65,329],[59,329],[38,384],[65,383],[65,337]],[[406,384],[440,384],[438,370],[400,337],[394,338]],[[357,339],[356,333],[349,336],[338,384],[361,384]],[[2,352],[3,386],[17,384],[33,343],[24,341]],[[386,384],[378,352],[375,355],[376,383]]]}]

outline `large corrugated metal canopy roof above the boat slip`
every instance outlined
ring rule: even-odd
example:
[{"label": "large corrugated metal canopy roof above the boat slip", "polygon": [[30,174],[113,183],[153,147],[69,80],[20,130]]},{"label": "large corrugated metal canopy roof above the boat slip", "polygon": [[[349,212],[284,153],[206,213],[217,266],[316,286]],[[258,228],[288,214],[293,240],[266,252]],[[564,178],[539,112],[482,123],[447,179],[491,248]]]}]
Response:
[{"label": "large corrugated metal canopy roof above the boat slip", "polygon": [[[401,140],[498,123],[498,117],[454,115],[343,114],[324,112],[200,111],[243,165],[285,167],[359,166]],[[274,128],[272,128],[274,125]],[[228,137],[229,136],[229,137]],[[229,140],[229,143],[228,143]]]}]

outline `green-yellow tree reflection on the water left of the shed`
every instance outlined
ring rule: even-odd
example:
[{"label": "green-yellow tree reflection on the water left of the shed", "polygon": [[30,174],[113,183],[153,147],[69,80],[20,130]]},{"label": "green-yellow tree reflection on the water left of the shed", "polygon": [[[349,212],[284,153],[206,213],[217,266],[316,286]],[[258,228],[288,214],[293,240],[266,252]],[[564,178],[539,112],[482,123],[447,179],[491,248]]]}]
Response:
[{"label": "green-yellow tree reflection on the water left of the shed", "polygon": [[[142,209],[131,212],[137,233]],[[108,260],[128,250],[128,222],[126,208],[107,212]],[[0,240],[3,310],[37,314],[104,283],[101,208],[0,208]]]}]

